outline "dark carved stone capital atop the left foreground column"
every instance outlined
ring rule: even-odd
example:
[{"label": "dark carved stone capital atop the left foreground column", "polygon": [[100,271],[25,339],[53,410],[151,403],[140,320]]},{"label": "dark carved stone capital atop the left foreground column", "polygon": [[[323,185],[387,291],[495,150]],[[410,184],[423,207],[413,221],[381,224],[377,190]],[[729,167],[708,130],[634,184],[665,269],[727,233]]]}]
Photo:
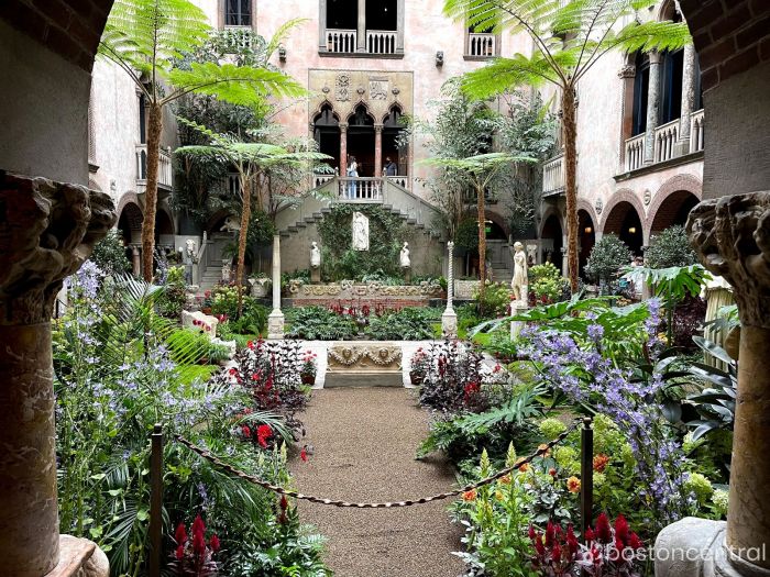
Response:
[{"label": "dark carved stone capital atop the left foreground column", "polygon": [[108,195],[0,173],[0,324],[47,321],[64,278],[116,220]]}]

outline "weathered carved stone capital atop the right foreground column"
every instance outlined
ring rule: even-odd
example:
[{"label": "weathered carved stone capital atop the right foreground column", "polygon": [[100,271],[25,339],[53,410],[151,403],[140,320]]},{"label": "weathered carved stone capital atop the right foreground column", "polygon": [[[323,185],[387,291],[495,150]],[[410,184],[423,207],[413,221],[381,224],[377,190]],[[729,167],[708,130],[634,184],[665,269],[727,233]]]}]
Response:
[{"label": "weathered carved stone capital atop the right foreground column", "polygon": [[688,234],[703,265],[734,287],[743,324],[770,329],[770,191],[701,202]]}]

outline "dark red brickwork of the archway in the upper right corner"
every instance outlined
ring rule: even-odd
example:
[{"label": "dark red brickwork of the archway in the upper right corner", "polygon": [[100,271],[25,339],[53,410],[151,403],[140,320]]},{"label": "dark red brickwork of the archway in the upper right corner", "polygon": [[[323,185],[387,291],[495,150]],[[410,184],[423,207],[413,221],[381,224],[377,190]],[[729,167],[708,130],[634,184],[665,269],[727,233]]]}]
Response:
[{"label": "dark red brickwork of the archway in the upper right corner", "polygon": [[703,89],[770,62],[770,1],[681,0],[701,56]]}]

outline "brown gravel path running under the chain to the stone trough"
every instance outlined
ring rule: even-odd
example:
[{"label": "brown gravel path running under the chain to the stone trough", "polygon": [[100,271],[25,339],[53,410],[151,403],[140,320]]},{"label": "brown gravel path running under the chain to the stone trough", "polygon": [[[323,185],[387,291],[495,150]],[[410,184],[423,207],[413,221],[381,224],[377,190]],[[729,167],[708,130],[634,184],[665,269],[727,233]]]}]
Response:
[{"label": "brown gravel path running under the chain to the stone trough", "polygon": [[[308,463],[293,464],[298,489],[348,501],[398,501],[441,492],[454,476],[442,462],[414,459],[428,418],[414,391],[333,388],[314,391],[307,411]],[[328,537],[327,563],[337,577],[457,577],[463,563],[461,528],[449,501],[400,509],[339,509],[301,501],[302,522]]]}]

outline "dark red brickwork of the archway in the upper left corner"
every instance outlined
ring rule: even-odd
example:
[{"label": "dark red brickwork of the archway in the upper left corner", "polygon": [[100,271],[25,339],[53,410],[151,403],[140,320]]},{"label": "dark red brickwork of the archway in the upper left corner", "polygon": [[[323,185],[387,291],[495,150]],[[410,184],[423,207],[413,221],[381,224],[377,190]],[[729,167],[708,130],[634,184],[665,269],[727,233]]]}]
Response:
[{"label": "dark red brickwork of the archway in the upper left corner", "polygon": [[0,19],[91,70],[113,0],[2,0]]}]

